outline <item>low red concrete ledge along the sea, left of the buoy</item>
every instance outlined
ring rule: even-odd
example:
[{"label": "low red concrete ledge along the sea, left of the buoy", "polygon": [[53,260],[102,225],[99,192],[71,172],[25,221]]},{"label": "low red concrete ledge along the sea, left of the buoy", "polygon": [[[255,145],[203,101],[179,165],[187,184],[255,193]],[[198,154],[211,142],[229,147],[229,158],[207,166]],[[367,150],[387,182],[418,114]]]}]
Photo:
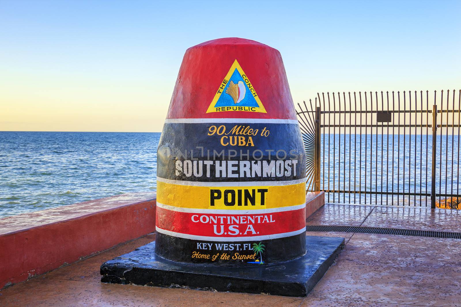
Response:
[{"label": "low red concrete ledge along the sea, left of the buoy", "polygon": [[0,219],[0,289],[155,230],[155,193]]}]

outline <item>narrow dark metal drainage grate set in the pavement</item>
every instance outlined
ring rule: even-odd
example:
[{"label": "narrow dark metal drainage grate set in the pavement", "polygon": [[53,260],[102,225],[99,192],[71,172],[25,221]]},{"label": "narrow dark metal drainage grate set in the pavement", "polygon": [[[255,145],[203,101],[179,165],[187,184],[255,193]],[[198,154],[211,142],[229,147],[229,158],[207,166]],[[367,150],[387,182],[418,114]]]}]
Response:
[{"label": "narrow dark metal drainage grate set in the pavement", "polygon": [[432,232],[425,230],[395,229],[380,227],[360,227],[360,226],[306,226],[307,232],[358,232],[358,233],[377,233],[385,235],[400,235],[413,237],[443,237],[449,239],[461,239],[460,232]]}]

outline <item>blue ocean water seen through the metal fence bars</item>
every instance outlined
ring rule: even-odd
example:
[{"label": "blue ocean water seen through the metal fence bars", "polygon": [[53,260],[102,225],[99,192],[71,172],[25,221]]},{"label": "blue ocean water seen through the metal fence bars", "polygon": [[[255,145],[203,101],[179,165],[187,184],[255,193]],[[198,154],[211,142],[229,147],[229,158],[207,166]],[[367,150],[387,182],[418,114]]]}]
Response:
[{"label": "blue ocean water seen through the metal fence bars", "polygon": [[[437,134],[436,201],[461,191],[459,144],[458,134]],[[325,133],[320,137],[320,189],[348,191],[327,193],[326,202],[431,206],[429,196],[415,195],[431,193],[431,170],[432,135]]]}]

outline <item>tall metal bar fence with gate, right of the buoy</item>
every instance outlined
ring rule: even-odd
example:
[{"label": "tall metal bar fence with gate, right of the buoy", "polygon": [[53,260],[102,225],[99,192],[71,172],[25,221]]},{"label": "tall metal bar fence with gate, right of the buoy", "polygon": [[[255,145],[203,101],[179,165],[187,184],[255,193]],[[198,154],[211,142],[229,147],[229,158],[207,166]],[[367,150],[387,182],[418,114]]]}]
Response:
[{"label": "tall metal bar fence with gate, right of the buoy", "polygon": [[328,203],[450,208],[460,109],[461,90],[318,93],[297,108],[307,191]]}]

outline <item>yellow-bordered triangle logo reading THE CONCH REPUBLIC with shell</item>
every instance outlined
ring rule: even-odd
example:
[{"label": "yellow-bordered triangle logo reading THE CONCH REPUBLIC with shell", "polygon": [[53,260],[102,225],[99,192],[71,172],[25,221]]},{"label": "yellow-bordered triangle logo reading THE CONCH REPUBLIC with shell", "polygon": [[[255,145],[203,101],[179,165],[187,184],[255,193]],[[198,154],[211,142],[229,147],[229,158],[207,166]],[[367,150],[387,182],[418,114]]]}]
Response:
[{"label": "yellow-bordered triangle logo reading THE CONCH REPUBLIC with shell", "polygon": [[207,113],[223,111],[267,113],[237,60],[221,82]]}]

